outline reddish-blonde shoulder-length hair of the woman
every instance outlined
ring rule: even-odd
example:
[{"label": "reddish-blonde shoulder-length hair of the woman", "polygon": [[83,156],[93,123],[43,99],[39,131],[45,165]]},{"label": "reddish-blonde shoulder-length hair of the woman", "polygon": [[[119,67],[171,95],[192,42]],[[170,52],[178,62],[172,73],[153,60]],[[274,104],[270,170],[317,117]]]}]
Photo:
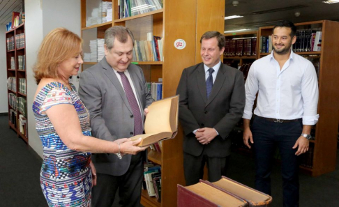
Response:
[{"label": "reddish-blonde shoulder-length hair of the woman", "polygon": [[36,65],[33,66],[36,84],[43,78],[60,79],[58,64],[79,54],[81,45],[82,39],[68,29],[50,31],[40,45]]}]

